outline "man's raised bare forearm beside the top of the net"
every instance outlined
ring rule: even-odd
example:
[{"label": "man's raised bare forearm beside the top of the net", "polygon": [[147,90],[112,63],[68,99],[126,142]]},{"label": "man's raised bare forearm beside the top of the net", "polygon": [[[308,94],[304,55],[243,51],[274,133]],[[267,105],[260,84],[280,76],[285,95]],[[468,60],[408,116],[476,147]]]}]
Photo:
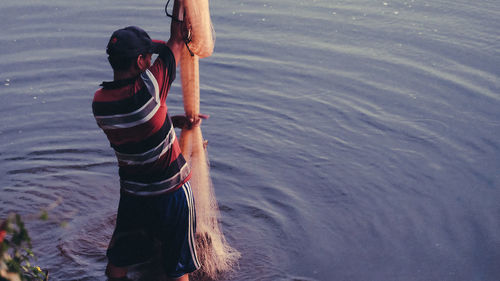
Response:
[{"label": "man's raised bare forearm beside the top of the net", "polygon": [[184,10],[181,5],[182,0],[175,0],[172,11],[172,23],[170,24],[170,39],[167,41],[167,46],[172,50],[175,57],[176,66],[181,60],[182,48],[184,48]]}]

